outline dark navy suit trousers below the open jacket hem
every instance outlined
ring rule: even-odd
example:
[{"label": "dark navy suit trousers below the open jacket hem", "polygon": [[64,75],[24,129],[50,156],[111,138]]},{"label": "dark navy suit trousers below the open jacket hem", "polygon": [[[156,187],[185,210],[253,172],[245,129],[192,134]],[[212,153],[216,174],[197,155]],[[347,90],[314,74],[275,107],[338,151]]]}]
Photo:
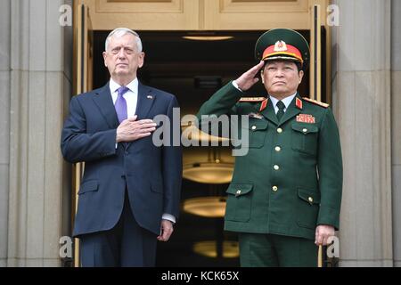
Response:
[{"label": "dark navy suit trousers below the open jacket hem", "polygon": [[157,236],[136,223],[126,195],[119,222],[110,231],[81,235],[83,267],[151,267],[156,262]]}]

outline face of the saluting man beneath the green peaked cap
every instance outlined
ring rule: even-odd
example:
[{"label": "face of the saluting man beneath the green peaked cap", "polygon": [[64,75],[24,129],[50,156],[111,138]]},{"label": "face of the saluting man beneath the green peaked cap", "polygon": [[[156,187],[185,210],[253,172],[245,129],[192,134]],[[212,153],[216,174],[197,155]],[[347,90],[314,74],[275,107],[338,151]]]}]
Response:
[{"label": "face of the saluting man beneath the green peaked cap", "polygon": [[268,94],[281,100],[297,92],[304,71],[293,61],[267,61],[261,76]]}]

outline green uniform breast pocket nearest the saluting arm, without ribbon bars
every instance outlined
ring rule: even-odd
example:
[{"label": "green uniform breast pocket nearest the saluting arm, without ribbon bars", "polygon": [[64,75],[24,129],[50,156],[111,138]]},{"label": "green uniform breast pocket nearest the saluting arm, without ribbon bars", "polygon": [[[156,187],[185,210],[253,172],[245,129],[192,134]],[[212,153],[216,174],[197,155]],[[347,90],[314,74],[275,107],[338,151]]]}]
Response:
[{"label": "green uniform breast pocket nearest the saluting arm, without ribbon bars", "polygon": [[250,148],[261,148],[265,144],[268,122],[266,119],[250,118],[248,126],[242,126],[241,141]]}]

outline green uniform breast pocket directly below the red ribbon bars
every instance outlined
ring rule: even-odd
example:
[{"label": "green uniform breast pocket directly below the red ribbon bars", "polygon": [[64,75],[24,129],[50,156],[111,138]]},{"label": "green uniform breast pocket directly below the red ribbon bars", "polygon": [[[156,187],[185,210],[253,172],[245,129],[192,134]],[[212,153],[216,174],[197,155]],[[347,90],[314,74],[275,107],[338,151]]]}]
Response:
[{"label": "green uniform breast pocket directly below the red ribbon bars", "polygon": [[309,124],[292,124],[291,147],[295,151],[315,155],[319,128]]}]

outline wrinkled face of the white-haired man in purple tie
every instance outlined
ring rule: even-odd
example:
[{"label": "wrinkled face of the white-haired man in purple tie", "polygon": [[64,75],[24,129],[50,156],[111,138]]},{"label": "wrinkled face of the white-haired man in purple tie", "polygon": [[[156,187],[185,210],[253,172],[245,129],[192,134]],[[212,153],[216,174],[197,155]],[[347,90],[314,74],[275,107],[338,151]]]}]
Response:
[{"label": "wrinkled face of the white-haired man in purple tie", "polygon": [[136,70],[143,66],[144,53],[138,53],[135,36],[126,34],[110,38],[103,58],[113,80],[119,82],[122,78],[129,78],[132,81],[136,77]]}]

